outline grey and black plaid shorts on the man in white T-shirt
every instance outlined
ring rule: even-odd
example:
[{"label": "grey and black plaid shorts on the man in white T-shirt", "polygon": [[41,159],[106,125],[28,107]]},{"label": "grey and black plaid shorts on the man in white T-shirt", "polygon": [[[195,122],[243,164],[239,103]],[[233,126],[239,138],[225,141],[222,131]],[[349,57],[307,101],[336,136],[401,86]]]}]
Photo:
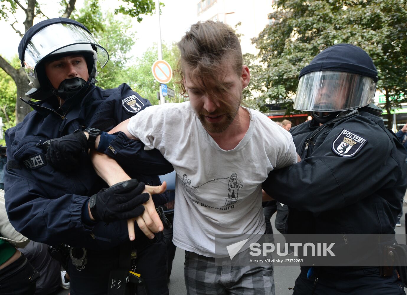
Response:
[{"label": "grey and black plaid shorts on the man in white T-shirt", "polygon": [[274,295],[270,264],[239,267],[225,259],[222,266],[217,266],[215,258],[185,251],[184,275],[188,295]]}]

